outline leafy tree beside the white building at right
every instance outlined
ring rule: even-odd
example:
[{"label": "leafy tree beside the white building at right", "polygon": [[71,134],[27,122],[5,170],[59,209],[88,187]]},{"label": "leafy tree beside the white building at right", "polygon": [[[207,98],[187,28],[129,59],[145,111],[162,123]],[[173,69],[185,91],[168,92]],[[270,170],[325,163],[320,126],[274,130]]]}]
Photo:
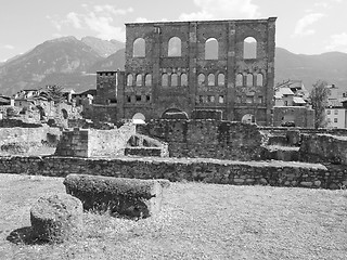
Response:
[{"label": "leafy tree beside the white building at right", "polygon": [[325,81],[318,80],[310,92],[309,99],[314,110],[314,128],[326,127],[325,107],[327,106],[327,98],[330,90],[326,88]]}]

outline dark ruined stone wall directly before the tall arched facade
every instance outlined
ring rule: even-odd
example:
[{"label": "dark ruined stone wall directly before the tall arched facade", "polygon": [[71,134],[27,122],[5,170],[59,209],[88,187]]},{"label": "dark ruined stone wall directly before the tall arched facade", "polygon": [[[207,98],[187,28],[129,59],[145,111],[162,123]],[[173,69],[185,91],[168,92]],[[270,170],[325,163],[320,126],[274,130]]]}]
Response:
[{"label": "dark ruined stone wall directly before the tall arched facade", "polygon": [[171,157],[259,160],[264,135],[256,125],[220,120],[151,120],[142,134],[167,142]]}]

